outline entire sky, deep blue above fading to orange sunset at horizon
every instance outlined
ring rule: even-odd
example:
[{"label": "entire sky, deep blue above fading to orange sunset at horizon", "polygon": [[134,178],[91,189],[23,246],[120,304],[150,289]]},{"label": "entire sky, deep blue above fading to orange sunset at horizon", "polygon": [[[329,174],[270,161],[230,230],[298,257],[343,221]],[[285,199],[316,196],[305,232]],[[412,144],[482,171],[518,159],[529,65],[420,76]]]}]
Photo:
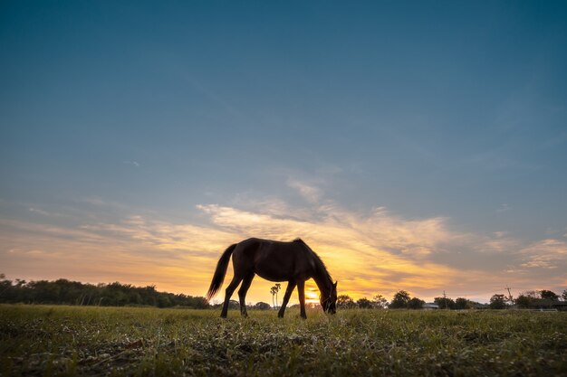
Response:
[{"label": "entire sky, deep blue above fading to orange sunset at horizon", "polygon": [[230,244],[300,237],[355,299],[561,293],[566,20],[553,1],[3,1],[0,272],[204,296]]}]

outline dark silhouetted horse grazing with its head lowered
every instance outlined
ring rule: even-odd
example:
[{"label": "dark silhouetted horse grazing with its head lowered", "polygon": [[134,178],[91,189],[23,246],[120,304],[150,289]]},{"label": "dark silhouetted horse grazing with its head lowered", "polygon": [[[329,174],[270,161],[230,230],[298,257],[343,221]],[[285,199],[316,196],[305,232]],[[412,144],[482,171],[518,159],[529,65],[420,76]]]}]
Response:
[{"label": "dark silhouetted horse grazing with its head lowered", "polygon": [[278,316],[283,317],[285,306],[292,296],[293,289],[297,287],[301,316],[305,315],[305,280],[313,278],[321,292],[321,306],[325,312],[334,314],[337,305],[337,282],[333,283],[325,265],[317,254],[303,240],[295,239],[291,242],[277,240],[248,239],[235,243],[225,250],[216,264],[215,275],[208,288],[207,300],[216,295],[225,280],[228,261],[232,255],[235,276],[226,287],[225,304],[220,314],[226,318],[228,301],[238,289],[240,298],[240,314],[246,313],[245,297],[255,274],[270,281],[287,281],[283,303]]}]

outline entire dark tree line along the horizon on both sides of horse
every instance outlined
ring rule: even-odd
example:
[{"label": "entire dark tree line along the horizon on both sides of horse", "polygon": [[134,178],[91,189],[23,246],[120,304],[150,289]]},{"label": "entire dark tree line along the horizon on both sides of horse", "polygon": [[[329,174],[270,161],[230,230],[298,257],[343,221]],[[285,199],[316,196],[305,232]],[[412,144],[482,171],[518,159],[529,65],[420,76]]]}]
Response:
[{"label": "entire dark tree line along the horizon on both sides of horse", "polygon": [[[280,284],[271,288],[272,307],[277,308],[277,294],[280,291]],[[275,298],[275,300],[274,300]],[[495,294],[490,298],[490,304],[481,304],[471,301],[465,297],[435,297],[433,303],[439,309],[462,310],[470,308],[491,308],[505,309],[508,307],[519,308],[551,308],[556,303],[567,302],[567,289],[563,290],[562,295],[558,295],[551,290],[531,290],[520,294],[518,297],[507,297],[502,294]],[[89,284],[78,281],[71,281],[60,278],[54,281],[37,280],[25,281],[15,279],[14,281],[5,278],[0,274],[0,303],[5,304],[65,304],[78,306],[158,306],[173,307],[181,306],[188,308],[216,308],[222,304],[210,305],[205,297],[193,297],[184,294],[174,294],[159,292],[155,286],[134,287],[130,284]],[[230,303],[231,306],[238,306],[236,301]],[[354,301],[348,295],[337,297],[339,308],[362,308],[362,309],[422,309],[429,307],[426,302],[419,297],[411,297],[405,290],[399,290],[388,300],[380,294],[371,299],[367,297],[359,298]],[[271,306],[264,302],[258,302],[249,308],[267,310]]]}]

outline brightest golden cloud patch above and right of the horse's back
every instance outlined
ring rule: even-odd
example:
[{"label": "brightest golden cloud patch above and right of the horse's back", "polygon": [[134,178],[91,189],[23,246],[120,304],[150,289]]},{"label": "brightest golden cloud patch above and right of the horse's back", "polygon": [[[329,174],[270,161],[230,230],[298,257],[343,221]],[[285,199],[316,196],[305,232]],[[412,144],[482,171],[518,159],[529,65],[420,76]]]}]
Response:
[{"label": "brightest golden cloud patch above and right of the horse's back", "polygon": [[247,237],[293,240],[301,237],[328,265],[333,278],[354,296],[397,287],[441,287],[454,271],[424,256],[447,239],[443,219],[403,221],[387,212],[359,218],[323,207],[320,221],[275,218],[217,204],[201,205],[214,226]]}]

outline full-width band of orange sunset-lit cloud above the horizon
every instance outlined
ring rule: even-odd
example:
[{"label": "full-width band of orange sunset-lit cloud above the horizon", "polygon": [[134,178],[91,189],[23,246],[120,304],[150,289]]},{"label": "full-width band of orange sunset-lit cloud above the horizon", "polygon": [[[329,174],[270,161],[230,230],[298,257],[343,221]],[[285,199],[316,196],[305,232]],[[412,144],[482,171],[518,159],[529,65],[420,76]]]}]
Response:
[{"label": "full-width band of orange sunset-lit cloud above the horizon", "polygon": [[[352,212],[327,202],[297,211],[279,200],[264,202],[197,205],[202,223],[165,221],[98,199],[87,203],[113,216],[81,219],[75,213],[66,225],[47,223],[47,217],[43,223],[0,219],[0,264],[14,278],[119,280],[200,296],[230,244],[301,237],[340,281],[341,292],[354,298],[391,297],[399,289],[423,298],[443,290],[465,297],[485,292],[487,298],[508,282],[533,287],[565,281],[564,240],[524,242],[502,231],[455,231],[446,217],[407,219],[383,207]],[[231,274],[229,269],[227,279]],[[271,284],[256,278],[248,301],[269,300]]]}]

